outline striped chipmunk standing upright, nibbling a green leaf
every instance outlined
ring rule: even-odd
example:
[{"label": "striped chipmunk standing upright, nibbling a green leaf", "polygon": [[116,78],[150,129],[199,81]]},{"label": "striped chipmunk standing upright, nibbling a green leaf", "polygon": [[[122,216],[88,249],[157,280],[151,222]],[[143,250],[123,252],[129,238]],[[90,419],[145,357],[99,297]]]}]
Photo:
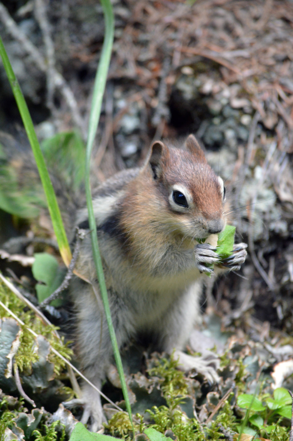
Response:
[{"label": "striped chipmunk standing upright, nibbling a green leaf", "polygon": [[[246,244],[219,261],[215,247],[198,243],[226,225],[223,180],[208,165],[193,135],[183,146],[156,141],[141,168],[119,172],[93,196],[100,253],[111,316],[119,348],[136,335],[147,335],[159,351],[194,368],[210,381],[209,361],[182,352],[200,317],[199,297],[206,277],[245,262]],[[87,209],[79,209],[75,226],[89,229]],[[82,242],[78,273],[99,290],[89,235]],[[83,374],[100,388],[113,359],[103,307],[93,287],[74,277],[70,284],[77,329],[76,351]],[[82,422],[96,431],[105,421],[100,395],[82,386]]]}]

